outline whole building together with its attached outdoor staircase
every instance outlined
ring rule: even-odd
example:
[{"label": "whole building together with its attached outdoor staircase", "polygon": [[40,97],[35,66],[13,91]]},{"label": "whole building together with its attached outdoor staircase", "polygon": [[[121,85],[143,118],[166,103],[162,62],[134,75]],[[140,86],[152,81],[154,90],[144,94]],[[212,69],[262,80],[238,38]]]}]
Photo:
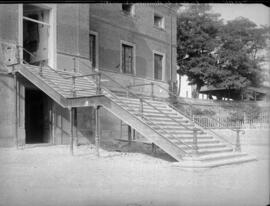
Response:
[{"label": "whole building together with its attached outdoor staircase", "polygon": [[172,104],[175,9],[0,5],[0,146],[69,144],[73,154],[91,142],[99,155],[102,141],[143,137],[183,167],[254,160],[240,130],[229,145]]}]

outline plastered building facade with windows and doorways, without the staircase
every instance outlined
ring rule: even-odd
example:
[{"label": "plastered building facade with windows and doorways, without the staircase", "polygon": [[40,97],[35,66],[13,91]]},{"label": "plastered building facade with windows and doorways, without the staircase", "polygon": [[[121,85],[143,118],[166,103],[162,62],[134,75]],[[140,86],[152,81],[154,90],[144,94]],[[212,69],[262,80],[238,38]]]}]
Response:
[{"label": "plastered building facade with windows and doorways, without the staircase", "polygon": [[[176,80],[176,12],[166,4],[2,4],[0,41],[1,146],[69,142],[68,110],[15,78],[16,64],[82,74],[99,70],[124,86],[155,82],[169,88]],[[149,95],[150,89],[134,92]],[[154,93],[167,95],[158,88]],[[75,119],[78,141],[91,141],[93,109],[77,108]],[[102,135],[119,135],[121,124],[101,110]]]}]

